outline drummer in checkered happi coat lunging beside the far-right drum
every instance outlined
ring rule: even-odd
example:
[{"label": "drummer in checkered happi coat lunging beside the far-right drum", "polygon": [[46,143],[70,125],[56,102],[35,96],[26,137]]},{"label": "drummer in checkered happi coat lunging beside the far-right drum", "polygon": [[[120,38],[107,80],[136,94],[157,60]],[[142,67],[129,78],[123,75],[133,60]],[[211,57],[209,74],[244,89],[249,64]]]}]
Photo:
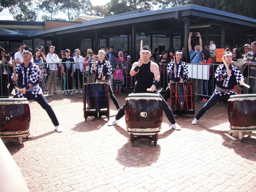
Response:
[{"label": "drummer in checkered happi coat lunging beside the far-right drum", "polygon": [[234,86],[237,83],[240,83],[240,86],[244,83],[244,76],[236,66],[231,65],[232,53],[230,51],[225,51],[223,57],[227,63],[228,69],[224,64],[217,67],[217,70],[215,71],[215,78],[217,79],[215,91],[208,102],[196,114],[195,119],[191,122],[193,125],[197,124],[203,114],[205,114],[205,112],[213,107],[219,100],[228,100],[230,95],[237,95],[234,91]]}]

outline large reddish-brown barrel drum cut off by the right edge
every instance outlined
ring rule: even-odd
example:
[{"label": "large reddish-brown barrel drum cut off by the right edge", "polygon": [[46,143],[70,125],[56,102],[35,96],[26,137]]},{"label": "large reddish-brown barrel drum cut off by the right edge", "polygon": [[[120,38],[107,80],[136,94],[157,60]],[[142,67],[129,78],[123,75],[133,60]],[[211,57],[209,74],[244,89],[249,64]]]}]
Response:
[{"label": "large reddish-brown barrel drum cut off by the right edge", "polygon": [[233,131],[256,131],[256,94],[231,95],[228,117]]}]

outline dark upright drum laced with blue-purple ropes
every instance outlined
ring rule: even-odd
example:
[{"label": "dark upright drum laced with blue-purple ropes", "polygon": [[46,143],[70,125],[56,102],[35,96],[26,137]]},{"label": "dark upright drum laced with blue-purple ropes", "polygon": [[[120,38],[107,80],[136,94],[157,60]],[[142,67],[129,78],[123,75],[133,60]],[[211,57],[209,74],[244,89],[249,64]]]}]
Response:
[{"label": "dark upright drum laced with blue-purple ropes", "polygon": [[87,109],[105,109],[107,105],[106,83],[87,83],[85,100]]}]

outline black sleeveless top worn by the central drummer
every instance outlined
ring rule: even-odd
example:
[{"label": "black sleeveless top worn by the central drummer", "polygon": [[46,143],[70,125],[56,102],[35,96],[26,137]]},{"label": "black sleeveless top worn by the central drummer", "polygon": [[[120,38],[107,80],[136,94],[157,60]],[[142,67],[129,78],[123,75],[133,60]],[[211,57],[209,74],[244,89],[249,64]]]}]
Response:
[{"label": "black sleeveless top worn by the central drummer", "polygon": [[136,84],[134,93],[146,93],[147,88],[150,88],[154,82],[154,73],[150,71],[150,61],[147,64],[142,64],[138,73],[135,74]]}]

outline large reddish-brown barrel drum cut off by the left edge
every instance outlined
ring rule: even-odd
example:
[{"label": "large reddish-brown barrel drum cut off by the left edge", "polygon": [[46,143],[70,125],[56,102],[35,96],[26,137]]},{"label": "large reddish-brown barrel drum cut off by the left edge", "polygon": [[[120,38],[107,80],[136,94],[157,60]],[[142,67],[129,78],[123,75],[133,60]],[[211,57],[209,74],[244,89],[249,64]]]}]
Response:
[{"label": "large reddish-brown barrel drum cut off by the left edge", "polygon": [[30,109],[27,99],[0,99],[0,137],[29,133]]}]

